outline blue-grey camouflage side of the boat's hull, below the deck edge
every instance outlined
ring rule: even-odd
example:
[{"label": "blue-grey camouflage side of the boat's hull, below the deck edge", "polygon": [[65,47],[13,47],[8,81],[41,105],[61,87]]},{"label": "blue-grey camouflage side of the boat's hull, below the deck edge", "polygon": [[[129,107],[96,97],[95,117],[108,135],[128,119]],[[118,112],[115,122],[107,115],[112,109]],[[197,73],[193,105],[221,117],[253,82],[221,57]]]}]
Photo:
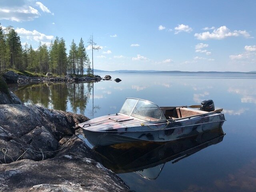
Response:
[{"label": "blue-grey camouflage side of the boat's hull, below the deck edge", "polygon": [[222,126],[224,121],[225,119],[220,118],[219,120],[213,122],[198,122],[197,124],[189,124],[189,120],[187,120],[178,124],[174,122],[173,124],[168,125],[168,128],[162,129],[138,131],[93,131],[83,129],[83,132],[87,140],[94,146],[107,146],[137,141],[166,142],[216,129]]}]

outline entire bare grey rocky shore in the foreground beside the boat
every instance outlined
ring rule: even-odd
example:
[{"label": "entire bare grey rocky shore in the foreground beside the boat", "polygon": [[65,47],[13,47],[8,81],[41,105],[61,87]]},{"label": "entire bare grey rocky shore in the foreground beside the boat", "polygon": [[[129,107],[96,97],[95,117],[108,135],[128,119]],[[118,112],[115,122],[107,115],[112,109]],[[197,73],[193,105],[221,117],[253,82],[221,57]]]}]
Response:
[{"label": "entire bare grey rocky shore in the foreground beside the boat", "polygon": [[0,191],[129,191],[76,136],[88,118],[25,106],[12,92],[0,101]]}]

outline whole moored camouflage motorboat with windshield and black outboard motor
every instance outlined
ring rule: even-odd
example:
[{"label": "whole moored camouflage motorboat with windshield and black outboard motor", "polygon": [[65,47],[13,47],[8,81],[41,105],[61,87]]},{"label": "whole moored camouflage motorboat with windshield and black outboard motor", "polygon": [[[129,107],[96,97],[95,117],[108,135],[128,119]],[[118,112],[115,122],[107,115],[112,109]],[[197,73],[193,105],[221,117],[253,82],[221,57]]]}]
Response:
[{"label": "whole moored camouflage motorboat with windshield and black outboard motor", "polygon": [[[196,109],[198,108],[198,109]],[[78,124],[94,146],[137,141],[166,142],[185,138],[222,126],[222,109],[212,100],[201,105],[159,107],[138,98],[126,98],[119,113]]]}]

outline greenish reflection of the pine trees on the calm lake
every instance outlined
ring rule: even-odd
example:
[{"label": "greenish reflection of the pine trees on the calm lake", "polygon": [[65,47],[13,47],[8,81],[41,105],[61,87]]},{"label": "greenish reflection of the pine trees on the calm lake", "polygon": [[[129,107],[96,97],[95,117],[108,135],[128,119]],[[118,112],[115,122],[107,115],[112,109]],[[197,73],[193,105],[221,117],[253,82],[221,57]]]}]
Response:
[{"label": "greenish reflection of the pine trees on the calm lake", "polygon": [[88,100],[92,95],[93,82],[47,82],[25,86],[16,84],[12,85],[10,89],[24,104],[38,104],[46,108],[66,111],[69,102],[72,112],[77,113],[79,111],[80,114],[84,114]]}]

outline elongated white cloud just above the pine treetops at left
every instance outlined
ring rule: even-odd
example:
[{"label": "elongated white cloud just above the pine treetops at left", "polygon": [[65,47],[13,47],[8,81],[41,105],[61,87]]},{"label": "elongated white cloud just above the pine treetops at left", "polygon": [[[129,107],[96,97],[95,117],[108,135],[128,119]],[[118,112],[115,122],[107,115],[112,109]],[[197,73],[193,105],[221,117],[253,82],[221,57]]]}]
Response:
[{"label": "elongated white cloud just above the pine treetops at left", "polygon": [[45,35],[43,33],[38,32],[37,30],[29,31],[24,28],[16,28],[15,31],[18,33],[19,36],[29,40],[35,40],[37,42],[51,41],[54,38],[54,36],[52,35]]}]

